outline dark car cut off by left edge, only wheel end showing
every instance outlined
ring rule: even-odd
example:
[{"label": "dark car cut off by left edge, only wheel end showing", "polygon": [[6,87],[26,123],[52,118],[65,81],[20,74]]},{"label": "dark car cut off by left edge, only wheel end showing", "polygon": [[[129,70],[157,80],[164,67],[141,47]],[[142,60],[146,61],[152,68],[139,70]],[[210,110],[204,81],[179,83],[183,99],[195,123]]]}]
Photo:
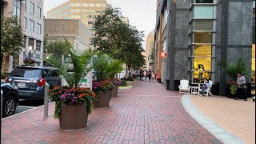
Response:
[{"label": "dark car cut off by left edge, only wheel end showing", "polygon": [[18,106],[18,88],[10,83],[1,82],[3,92],[2,99],[2,118],[8,117],[15,113]]}]

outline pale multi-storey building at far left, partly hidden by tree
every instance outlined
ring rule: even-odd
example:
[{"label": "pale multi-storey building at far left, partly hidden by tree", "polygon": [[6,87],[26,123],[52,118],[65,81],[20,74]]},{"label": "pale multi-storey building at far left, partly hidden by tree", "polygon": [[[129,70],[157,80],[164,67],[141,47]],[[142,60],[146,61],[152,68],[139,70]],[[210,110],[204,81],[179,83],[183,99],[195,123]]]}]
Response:
[{"label": "pale multi-storey building at far left, partly hidden by tree", "polygon": [[5,73],[23,64],[25,58],[33,58],[42,65],[43,51],[43,0],[4,0],[1,2],[4,16],[17,16],[25,37],[22,50],[6,58]]}]

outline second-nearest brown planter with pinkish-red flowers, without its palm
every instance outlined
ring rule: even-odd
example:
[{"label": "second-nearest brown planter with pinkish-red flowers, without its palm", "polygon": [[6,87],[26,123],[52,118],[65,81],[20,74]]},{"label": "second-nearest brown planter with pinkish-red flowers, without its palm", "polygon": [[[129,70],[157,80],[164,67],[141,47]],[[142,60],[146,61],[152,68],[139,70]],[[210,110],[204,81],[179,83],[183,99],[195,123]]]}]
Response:
[{"label": "second-nearest brown planter with pinkish-red flowers, without its palm", "polygon": [[93,90],[96,93],[94,98],[94,107],[102,108],[110,106],[111,91],[113,90],[113,83],[110,81],[93,81]]}]

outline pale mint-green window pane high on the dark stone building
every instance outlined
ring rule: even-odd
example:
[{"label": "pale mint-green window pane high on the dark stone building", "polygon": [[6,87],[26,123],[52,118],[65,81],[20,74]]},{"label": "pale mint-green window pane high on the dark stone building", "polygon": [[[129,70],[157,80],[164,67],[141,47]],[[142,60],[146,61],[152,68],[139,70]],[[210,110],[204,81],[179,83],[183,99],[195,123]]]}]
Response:
[{"label": "pale mint-green window pane high on the dark stone building", "polygon": [[194,6],[193,18],[214,18],[214,6]]}]

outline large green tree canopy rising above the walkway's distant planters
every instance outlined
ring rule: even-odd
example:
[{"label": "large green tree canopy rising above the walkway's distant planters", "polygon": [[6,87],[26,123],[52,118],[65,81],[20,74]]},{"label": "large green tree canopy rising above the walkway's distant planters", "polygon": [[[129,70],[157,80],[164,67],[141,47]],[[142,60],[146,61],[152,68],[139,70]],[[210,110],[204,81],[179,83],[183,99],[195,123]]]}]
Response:
[{"label": "large green tree canopy rising above the walkway's distant planters", "polygon": [[136,27],[122,22],[118,8],[109,8],[96,18],[93,27],[95,37],[92,44],[103,54],[125,62],[127,66],[143,66],[142,52],[144,34]]}]

